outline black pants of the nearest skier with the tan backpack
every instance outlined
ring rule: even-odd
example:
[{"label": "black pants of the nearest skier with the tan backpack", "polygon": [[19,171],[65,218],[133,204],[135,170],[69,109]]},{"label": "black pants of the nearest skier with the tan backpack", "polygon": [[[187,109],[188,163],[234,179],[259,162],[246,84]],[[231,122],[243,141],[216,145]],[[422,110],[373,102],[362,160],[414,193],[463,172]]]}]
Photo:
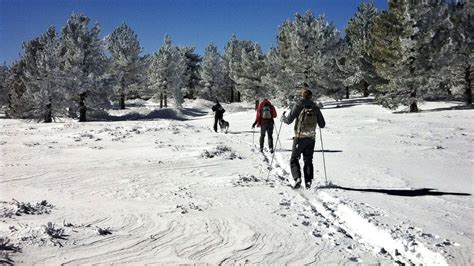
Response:
[{"label": "black pants of the nearest skier with the tan backpack", "polygon": [[300,157],[303,154],[303,173],[305,182],[313,181],[313,153],[316,141],[313,138],[293,138],[293,149],[291,151],[290,167],[293,179],[301,179]]}]

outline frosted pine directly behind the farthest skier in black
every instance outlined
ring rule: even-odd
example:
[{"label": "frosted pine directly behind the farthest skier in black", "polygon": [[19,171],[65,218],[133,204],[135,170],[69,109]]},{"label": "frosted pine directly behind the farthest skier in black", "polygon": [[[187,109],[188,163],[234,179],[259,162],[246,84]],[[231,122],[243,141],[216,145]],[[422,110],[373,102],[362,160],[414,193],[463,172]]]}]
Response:
[{"label": "frosted pine directly behind the farthest skier in black", "polygon": [[213,43],[206,47],[199,75],[201,77],[201,98],[225,100],[224,60]]}]

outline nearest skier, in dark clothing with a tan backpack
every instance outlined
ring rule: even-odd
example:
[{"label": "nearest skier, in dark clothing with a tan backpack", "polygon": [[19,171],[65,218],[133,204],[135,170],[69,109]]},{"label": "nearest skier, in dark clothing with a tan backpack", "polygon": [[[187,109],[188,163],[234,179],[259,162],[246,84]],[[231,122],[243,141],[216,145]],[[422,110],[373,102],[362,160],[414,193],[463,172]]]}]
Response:
[{"label": "nearest skier, in dark clothing with a tan backpack", "polygon": [[295,188],[301,186],[301,171],[299,159],[303,154],[304,179],[306,188],[311,187],[313,182],[313,153],[316,138],[316,125],[324,128],[326,122],[319,107],[312,101],[313,93],[307,84],[303,84],[302,99],[291,108],[290,114],[281,116],[281,121],[286,124],[295,122],[295,136],[293,137],[293,148],[291,151],[290,167],[291,175],[295,180]]}]

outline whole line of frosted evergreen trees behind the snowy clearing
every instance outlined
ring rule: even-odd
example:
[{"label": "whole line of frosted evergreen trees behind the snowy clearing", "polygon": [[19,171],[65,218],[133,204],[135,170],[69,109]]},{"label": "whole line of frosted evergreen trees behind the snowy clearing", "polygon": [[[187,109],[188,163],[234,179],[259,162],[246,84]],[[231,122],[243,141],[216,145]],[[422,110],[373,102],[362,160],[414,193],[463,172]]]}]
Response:
[{"label": "whole line of frosted evergreen trees behind the snowy clearing", "polygon": [[426,99],[462,98],[472,104],[473,2],[389,0],[388,10],[361,3],[344,37],[324,16],[296,14],[278,27],[277,44],[233,35],[219,53],[178,47],[167,35],[152,55],[141,55],[137,35],[122,24],[105,39],[100,26],[72,14],[23,44],[23,55],[0,66],[0,103],[12,118],[51,122],[125,108],[133,98],[225,102],[274,98],[288,103],[306,83],[316,96],[373,94],[382,106],[418,111]]}]

